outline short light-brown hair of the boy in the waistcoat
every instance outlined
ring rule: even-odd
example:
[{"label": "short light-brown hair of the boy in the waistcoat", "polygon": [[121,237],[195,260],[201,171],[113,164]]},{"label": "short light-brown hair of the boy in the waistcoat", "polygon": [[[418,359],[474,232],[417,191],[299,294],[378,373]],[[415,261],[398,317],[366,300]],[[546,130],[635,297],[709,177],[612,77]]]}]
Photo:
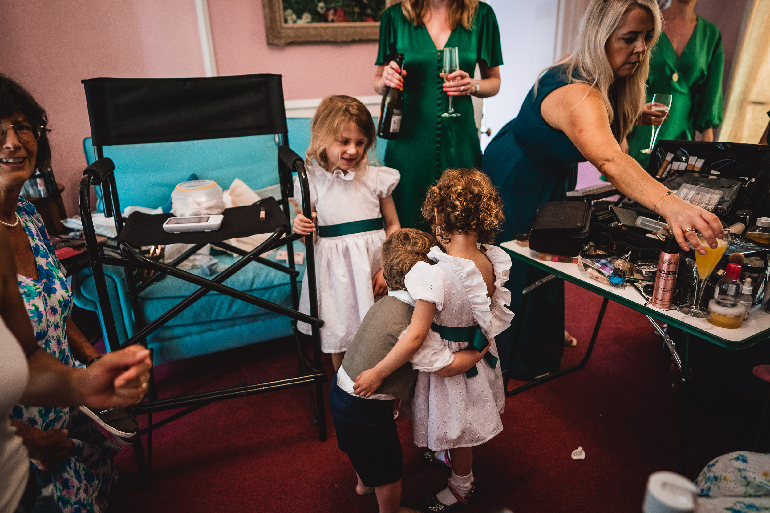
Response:
[{"label": "short light-brown hair of the boy in the waistcoat", "polygon": [[383,278],[388,290],[406,289],[403,277],[412,270],[418,261],[434,262],[426,254],[434,245],[434,238],[414,228],[400,228],[390,234],[383,242],[382,266]]}]

